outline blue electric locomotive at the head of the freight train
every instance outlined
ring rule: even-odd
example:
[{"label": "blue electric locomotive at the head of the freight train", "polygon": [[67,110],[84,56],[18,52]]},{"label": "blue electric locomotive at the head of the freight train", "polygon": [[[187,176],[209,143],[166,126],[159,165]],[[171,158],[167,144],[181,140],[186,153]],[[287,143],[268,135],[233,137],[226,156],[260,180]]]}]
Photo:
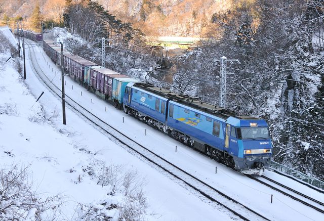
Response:
[{"label": "blue electric locomotive at the head of the freight train", "polygon": [[144,83],[129,83],[124,111],[167,132],[218,161],[248,174],[270,165],[271,140],[263,119],[235,116],[227,109]]}]

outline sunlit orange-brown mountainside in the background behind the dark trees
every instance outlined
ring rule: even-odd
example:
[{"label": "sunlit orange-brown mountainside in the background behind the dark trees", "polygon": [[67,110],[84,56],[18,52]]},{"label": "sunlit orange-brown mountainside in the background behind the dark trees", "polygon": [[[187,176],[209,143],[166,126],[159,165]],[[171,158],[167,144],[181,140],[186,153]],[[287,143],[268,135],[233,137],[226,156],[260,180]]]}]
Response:
[{"label": "sunlit orange-brown mountainside in the background behind the dark trees", "polygon": [[[88,0],[82,0],[88,1]],[[72,1],[80,2],[80,1]],[[228,9],[227,0],[98,0],[118,19],[134,24],[148,35],[198,36],[215,13]],[[45,19],[59,20],[65,0],[0,0],[1,16],[28,20],[39,4]]]}]

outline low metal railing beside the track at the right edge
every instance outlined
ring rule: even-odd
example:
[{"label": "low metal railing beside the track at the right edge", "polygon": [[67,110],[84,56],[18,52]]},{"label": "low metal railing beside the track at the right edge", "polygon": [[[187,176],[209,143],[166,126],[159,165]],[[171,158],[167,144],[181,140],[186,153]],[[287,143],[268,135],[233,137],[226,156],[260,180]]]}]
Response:
[{"label": "low metal railing beside the track at the right edge", "polygon": [[301,180],[305,183],[308,183],[314,187],[324,190],[324,182],[323,181],[320,181],[315,178],[311,178],[310,176],[308,176],[302,172],[299,172],[299,171],[289,168],[287,166],[281,165],[280,163],[277,163],[274,161],[271,161],[271,167],[280,171],[280,172],[294,176],[294,178]]}]

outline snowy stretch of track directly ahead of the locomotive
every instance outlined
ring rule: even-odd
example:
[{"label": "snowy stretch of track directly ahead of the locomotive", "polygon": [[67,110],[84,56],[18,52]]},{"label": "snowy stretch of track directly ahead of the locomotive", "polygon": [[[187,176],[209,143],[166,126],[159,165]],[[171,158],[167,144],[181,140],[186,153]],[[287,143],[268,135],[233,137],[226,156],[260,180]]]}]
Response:
[{"label": "snowy stretch of track directly ahead of the locomotive", "polygon": [[[307,195],[305,195],[303,193],[300,193],[297,190],[294,190],[294,189],[292,189],[292,188],[290,188],[288,186],[285,186],[283,184],[280,184],[279,182],[274,181],[274,180],[268,178],[267,176],[262,175],[260,178],[256,178],[256,177],[254,177],[252,175],[248,175],[248,177],[251,178],[251,179],[253,179],[253,180],[255,180],[255,181],[257,181],[257,182],[259,182],[259,183],[261,183],[261,184],[263,184],[263,185],[265,185],[265,186],[267,186],[267,187],[270,187],[271,189],[273,189],[273,190],[275,190],[275,191],[277,191],[279,193],[282,193],[282,194],[284,194],[284,195],[286,195],[286,196],[288,196],[288,197],[290,197],[290,198],[292,198],[292,199],[294,199],[294,200],[296,200],[298,202],[301,202],[301,203],[303,203],[304,205],[306,205],[308,207],[311,207],[311,208],[313,208],[313,209],[315,209],[315,210],[317,210],[317,211],[319,211],[321,213],[324,213],[324,210],[323,209],[319,208],[317,205],[314,205],[314,204],[318,204],[320,206],[324,206],[324,203],[323,202],[320,202],[320,201],[318,201],[316,199],[313,199],[313,198],[311,198],[311,197],[309,197],[309,196],[307,196]],[[275,184],[277,186],[280,186],[282,188],[285,188],[288,191],[291,191],[293,193],[296,193],[296,194],[300,195],[301,197],[304,197],[305,199],[309,200],[312,203],[306,202],[305,200],[303,200],[301,198],[298,198],[296,196],[293,196],[292,194],[289,194],[289,193],[287,193],[287,192],[285,192],[283,190],[280,190],[279,188],[274,187],[273,185],[271,185],[271,184],[269,184],[269,183],[267,183],[265,181],[262,181],[262,179],[265,179],[265,180],[267,180],[267,181],[269,181],[269,182],[271,182],[271,183],[273,183],[273,184]]]}]

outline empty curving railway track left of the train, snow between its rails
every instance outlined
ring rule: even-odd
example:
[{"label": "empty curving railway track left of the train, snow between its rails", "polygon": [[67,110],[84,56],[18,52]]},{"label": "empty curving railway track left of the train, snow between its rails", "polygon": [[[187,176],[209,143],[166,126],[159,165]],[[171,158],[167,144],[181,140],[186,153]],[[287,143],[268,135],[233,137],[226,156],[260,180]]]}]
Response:
[{"label": "empty curving railway track left of the train, snow between its rails", "polygon": [[[27,43],[29,43],[29,41]],[[32,51],[34,51],[33,48]],[[34,72],[38,75],[37,78],[41,79],[45,86],[50,91],[52,91],[52,93],[56,97],[61,98],[61,90],[54,83],[51,82],[50,78],[39,67],[39,64],[36,61],[36,59],[31,56],[31,50],[29,50],[29,57],[31,59],[32,68],[34,69]],[[120,132],[118,129],[114,128],[113,126],[109,125],[102,119],[92,114],[90,111],[88,111],[83,106],[79,105],[67,95],[65,95],[65,102],[71,107],[71,109],[77,112],[77,114],[82,115],[84,118],[86,118],[87,120],[95,124],[98,128],[100,128],[101,131],[105,132],[105,134],[107,134],[110,137],[110,140],[117,143],[119,146],[126,148],[128,151],[138,154],[141,158],[146,159],[150,163],[154,164],[157,168],[165,171],[166,173],[169,173],[175,179],[179,180],[180,182],[183,182],[185,185],[197,191],[199,194],[203,195],[210,201],[223,206],[239,218],[244,220],[270,220],[267,217],[260,214],[258,211],[255,211],[249,208],[248,206],[238,202],[237,200],[210,186],[204,181],[201,181],[194,175],[186,172],[185,170],[169,162],[168,160],[164,159],[158,154],[155,154],[154,152],[148,150],[146,147],[142,146],[130,137],[124,135],[123,132]]]}]

